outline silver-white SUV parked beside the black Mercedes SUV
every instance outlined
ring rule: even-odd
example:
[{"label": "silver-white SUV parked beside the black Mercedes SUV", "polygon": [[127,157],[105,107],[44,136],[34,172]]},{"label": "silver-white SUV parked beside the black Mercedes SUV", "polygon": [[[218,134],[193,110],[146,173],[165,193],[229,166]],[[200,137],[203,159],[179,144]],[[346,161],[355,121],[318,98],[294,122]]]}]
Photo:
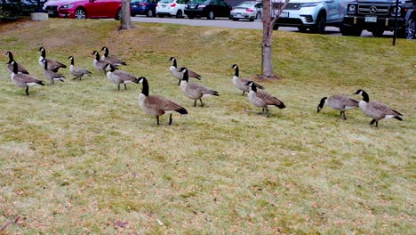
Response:
[{"label": "silver-white SUV parked beside the black Mercedes SUV", "polygon": [[[274,4],[278,7],[281,3]],[[275,29],[297,27],[301,32],[310,29],[313,33],[323,34],[326,26],[342,26],[347,4],[348,0],[291,0],[276,20]]]}]

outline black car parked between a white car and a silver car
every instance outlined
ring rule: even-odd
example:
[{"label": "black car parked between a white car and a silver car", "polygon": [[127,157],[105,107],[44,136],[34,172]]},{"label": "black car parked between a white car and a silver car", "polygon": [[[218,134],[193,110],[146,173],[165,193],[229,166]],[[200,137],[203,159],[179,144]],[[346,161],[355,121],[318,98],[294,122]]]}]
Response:
[{"label": "black car parked between a white car and a silver car", "polygon": [[189,19],[195,17],[206,17],[208,20],[213,20],[215,17],[229,18],[229,12],[231,12],[231,6],[224,0],[194,0],[185,7],[185,14]]}]

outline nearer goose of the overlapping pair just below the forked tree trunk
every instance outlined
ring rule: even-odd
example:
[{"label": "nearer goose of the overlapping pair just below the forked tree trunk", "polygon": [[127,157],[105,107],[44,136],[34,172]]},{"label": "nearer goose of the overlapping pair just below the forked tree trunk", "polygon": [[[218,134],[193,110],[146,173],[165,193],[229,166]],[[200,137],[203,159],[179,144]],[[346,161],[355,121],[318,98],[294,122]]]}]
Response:
[{"label": "nearer goose of the overlapping pair just below the forked tree trunk", "polygon": [[263,91],[257,91],[257,85],[253,82],[248,82],[249,86],[249,93],[247,95],[247,99],[257,107],[261,107],[261,113],[264,113],[264,109],[266,109],[268,117],[270,117],[270,113],[268,112],[268,108],[272,106],[276,106],[279,109],[284,109],[284,102],[277,99],[275,96],[272,96],[269,93]]}]

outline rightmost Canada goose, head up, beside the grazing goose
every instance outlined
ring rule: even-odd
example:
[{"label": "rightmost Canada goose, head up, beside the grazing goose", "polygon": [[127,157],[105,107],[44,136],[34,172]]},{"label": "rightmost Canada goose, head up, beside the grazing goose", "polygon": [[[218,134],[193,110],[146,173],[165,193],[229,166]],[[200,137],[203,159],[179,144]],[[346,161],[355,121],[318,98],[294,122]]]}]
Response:
[{"label": "rightmost Canada goose, head up, beside the grazing goose", "polygon": [[403,118],[399,117],[403,115],[395,109],[391,109],[384,103],[370,101],[368,93],[363,90],[359,89],[354,94],[361,94],[363,96],[363,101],[358,103],[358,107],[360,107],[366,116],[372,118],[370,125],[373,125],[375,122],[377,127],[379,126],[379,120],[384,118],[396,118],[399,121],[403,120]]}]

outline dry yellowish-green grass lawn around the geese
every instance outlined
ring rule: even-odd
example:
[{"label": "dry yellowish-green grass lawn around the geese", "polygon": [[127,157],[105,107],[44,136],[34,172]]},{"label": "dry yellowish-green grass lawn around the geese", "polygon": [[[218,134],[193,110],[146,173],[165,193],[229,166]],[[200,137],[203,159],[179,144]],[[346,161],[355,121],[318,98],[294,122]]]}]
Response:
[{"label": "dry yellowish-green grass lawn around the geese", "polygon": [[[276,31],[282,79],[258,82],[287,108],[266,118],[232,85],[230,69],[260,73],[260,30],[118,24],[0,26],[0,51],[38,78],[40,46],[94,72],[27,97],[0,58],[0,227],[20,216],[5,234],[414,234],[414,41]],[[156,126],[138,105],[141,85],[117,91],[93,69],[91,53],[104,45],[188,115]],[[192,107],[169,73],[171,56],[220,97]],[[346,121],[328,107],[316,113],[322,97],[361,100],[352,95],[360,88],[404,121],[374,128],[359,109]]]}]

